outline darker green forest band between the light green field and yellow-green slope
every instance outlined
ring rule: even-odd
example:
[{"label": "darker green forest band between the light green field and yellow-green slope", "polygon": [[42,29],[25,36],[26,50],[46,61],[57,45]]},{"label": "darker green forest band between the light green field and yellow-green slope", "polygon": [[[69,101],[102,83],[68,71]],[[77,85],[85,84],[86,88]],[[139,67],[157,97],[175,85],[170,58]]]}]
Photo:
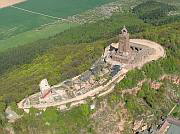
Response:
[{"label": "darker green forest band between the light green field and yellow-green slope", "polygon": [[[113,16],[112,20],[99,21],[95,24],[85,24],[64,31],[52,38],[42,39],[25,46],[10,49],[7,52],[2,52],[0,53],[0,74],[15,66],[30,63],[35,57],[48,51],[49,48],[111,38],[119,33],[123,25],[127,25],[130,28],[130,32],[139,32],[143,30],[143,26],[145,25],[142,20],[132,14]],[[16,59],[13,57],[16,57]]]}]

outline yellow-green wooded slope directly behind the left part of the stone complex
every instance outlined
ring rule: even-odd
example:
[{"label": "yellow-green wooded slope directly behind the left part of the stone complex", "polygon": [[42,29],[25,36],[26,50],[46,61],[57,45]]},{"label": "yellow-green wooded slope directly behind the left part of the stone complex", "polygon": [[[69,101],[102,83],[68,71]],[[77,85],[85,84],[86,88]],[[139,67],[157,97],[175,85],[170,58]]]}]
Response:
[{"label": "yellow-green wooded slope directly behind the left part of the stone complex", "polygon": [[[39,81],[43,78],[47,78],[53,85],[66,78],[76,76],[88,69],[102,51],[102,43],[80,44],[76,47],[67,45],[56,48],[37,57],[31,64],[23,65],[5,75],[1,79],[3,85],[0,92],[4,92],[2,97],[4,96],[5,100],[9,98],[9,101],[19,101],[27,94],[38,91]],[[89,58],[86,60],[84,57]],[[14,95],[16,93],[18,96]]]}]

